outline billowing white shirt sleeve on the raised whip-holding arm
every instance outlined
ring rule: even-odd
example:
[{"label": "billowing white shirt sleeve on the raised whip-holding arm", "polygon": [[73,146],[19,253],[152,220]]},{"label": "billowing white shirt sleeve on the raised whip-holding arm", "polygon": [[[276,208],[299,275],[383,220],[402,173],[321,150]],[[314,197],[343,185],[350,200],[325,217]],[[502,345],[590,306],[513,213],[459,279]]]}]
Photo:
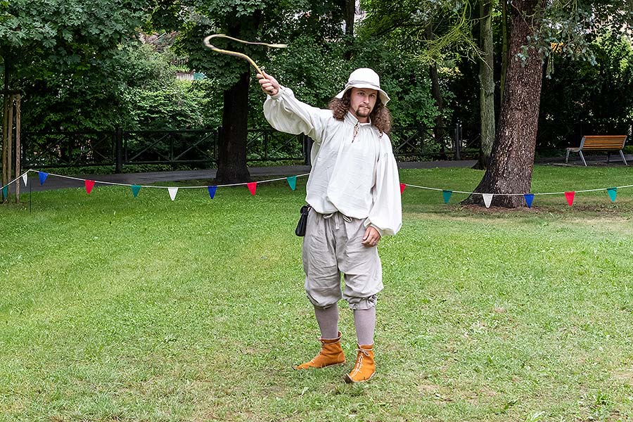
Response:
[{"label": "billowing white shirt sleeve on the raised whip-holding arm", "polygon": [[306,134],[315,143],[321,143],[332,112],[308,106],[295,98],[290,88],[281,87],[276,95],[268,96],[264,101],[264,117],[281,132]]}]

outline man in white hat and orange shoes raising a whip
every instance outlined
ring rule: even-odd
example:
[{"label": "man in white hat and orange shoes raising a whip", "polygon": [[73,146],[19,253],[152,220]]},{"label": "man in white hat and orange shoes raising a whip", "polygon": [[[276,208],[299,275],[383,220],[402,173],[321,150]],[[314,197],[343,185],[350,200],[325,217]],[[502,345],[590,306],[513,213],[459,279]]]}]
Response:
[{"label": "man in white hat and orange shoes raising a whip", "polygon": [[328,110],[298,101],[293,91],[265,72],[257,78],[269,94],[264,115],[271,126],[314,140],[306,195],[312,210],[302,252],[305,290],[321,331],[321,351],[294,368],[345,364],[337,305],[344,298],[354,311],[358,341],[356,364],[345,381],[367,381],[376,373],[376,294],[383,289],[376,245],[402,225],[398,169],[387,135],[389,96],[376,72],[367,68],[352,72]]}]

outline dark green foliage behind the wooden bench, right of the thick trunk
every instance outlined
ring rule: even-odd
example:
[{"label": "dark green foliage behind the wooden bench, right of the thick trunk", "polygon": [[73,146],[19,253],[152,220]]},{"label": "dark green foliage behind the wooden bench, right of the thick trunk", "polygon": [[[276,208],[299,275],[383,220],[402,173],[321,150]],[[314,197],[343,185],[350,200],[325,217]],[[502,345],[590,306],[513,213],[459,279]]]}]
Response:
[{"label": "dark green foliage behind the wooden bench, right of the thick trunk", "polygon": [[577,146],[582,135],[628,134],[633,121],[633,48],[613,32],[590,45],[595,64],[551,55],[554,72],[544,79],[539,146]]}]

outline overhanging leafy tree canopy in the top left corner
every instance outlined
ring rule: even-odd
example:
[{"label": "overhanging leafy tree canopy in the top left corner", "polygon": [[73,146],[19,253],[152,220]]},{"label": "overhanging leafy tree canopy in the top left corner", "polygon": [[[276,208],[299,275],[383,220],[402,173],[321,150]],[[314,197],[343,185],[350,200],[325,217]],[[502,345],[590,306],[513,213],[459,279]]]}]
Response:
[{"label": "overhanging leafy tree canopy in the top left corner", "polygon": [[20,76],[41,69],[38,63],[64,69],[108,52],[134,35],[144,1],[12,0],[0,4],[0,55]]}]

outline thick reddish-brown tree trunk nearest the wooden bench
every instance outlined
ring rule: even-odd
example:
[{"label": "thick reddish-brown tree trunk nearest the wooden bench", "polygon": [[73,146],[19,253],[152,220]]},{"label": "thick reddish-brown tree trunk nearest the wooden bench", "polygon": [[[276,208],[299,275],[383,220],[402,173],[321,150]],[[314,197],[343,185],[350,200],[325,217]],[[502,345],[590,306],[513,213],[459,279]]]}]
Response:
[{"label": "thick reddish-brown tree trunk nearest the wooden bench", "polygon": [[[542,86],[542,55],[530,49],[526,63],[516,60],[528,36],[539,30],[539,7],[544,0],[516,1],[511,8],[510,54],[499,127],[492,146],[490,165],[475,189],[479,193],[529,193]],[[483,203],[471,195],[465,203]],[[523,196],[494,196],[492,205],[520,207]]]}]

